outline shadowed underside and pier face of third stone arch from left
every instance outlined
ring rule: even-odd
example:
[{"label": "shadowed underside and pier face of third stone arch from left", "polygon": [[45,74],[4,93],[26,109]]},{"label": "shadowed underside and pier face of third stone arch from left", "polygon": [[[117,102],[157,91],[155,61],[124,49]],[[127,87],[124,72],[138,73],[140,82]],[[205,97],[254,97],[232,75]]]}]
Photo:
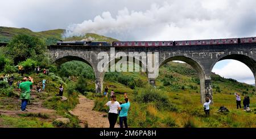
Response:
[{"label": "shadowed underside and pier face of third stone arch from left", "polygon": [[[206,94],[206,88],[205,88],[204,67],[199,62],[197,62],[195,59],[192,59],[190,57],[185,57],[184,55],[180,55],[180,56],[174,56],[174,57],[169,57],[167,59],[160,60],[159,68],[161,66],[163,66],[163,64],[166,64],[166,63],[168,63],[170,61],[173,61],[173,60],[179,60],[179,61],[185,62],[185,63],[189,64],[191,67],[193,67],[194,69],[196,69],[196,71],[199,75],[199,78],[200,78],[201,103],[204,103],[205,102],[205,97],[207,95]],[[212,95],[212,94],[210,94],[210,95]]]}]

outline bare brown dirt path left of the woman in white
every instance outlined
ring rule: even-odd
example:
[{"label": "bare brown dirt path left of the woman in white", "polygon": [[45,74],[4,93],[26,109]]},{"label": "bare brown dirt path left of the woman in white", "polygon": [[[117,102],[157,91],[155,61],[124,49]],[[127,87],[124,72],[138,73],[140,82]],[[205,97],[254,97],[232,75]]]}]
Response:
[{"label": "bare brown dirt path left of the woman in white", "polygon": [[[105,112],[93,111],[94,101],[79,95],[79,104],[69,111],[71,114],[78,116],[81,121],[81,127],[87,123],[89,128],[109,128],[108,114]],[[115,128],[119,126],[115,124]]]}]

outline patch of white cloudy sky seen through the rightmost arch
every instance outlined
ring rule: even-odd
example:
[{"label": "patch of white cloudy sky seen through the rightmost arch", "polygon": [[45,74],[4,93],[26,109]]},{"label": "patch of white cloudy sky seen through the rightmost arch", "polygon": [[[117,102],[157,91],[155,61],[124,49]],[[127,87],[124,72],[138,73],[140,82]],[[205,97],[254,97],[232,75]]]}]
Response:
[{"label": "patch of white cloudy sky seen through the rightmost arch", "polygon": [[225,78],[245,82],[246,84],[255,83],[253,72],[251,72],[250,68],[237,60],[229,60],[229,62],[221,68],[216,68],[216,66],[214,66],[212,72]]}]

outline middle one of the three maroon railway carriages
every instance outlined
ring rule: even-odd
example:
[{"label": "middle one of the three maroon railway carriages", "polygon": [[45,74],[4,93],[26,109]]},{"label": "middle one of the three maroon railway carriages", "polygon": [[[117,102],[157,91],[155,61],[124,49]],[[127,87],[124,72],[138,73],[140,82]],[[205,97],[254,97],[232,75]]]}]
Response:
[{"label": "middle one of the three maroon railway carriages", "polygon": [[238,44],[238,38],[227,38],[227,39],[216,39],[216,40],[175,41],[175,46],[184,46],[184,45],[220,45],[220,44]]}]

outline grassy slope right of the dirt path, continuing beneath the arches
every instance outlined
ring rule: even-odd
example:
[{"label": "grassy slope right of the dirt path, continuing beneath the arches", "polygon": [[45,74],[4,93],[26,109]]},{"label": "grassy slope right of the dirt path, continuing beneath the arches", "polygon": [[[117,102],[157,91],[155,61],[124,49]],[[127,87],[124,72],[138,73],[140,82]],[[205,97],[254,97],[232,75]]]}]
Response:
[{"label": "grassy slope right of the dirt path, continuing beneath the arches", "polygon": [[[64,63],[60,71],[72,76],[78,68],[86,78],[86,97],[96,101],[94,110],[108,112],[103,105],[109,100],[94,94],[92,69],[84,64],[82,68],[70,66],[71,63],[81,65],[82,62]],[[64,69],[63,69],[64,68]],[[80,71],[85,69],[86,72]],[[69,72],[70,71],[70,72]],[[76,71],[76,70],[75,70]],[[129,95],[131,110],[129,112],[130,127],[256,127],[255,112],[247,113],[236,109],[234,92],[250,96],[250,107],[256,107],[255,88],[224,79],[212,73],[214,104],[210,107],[210,117],[204,117],[203,106],[200,103],[200,82],[195,69],[186,63],[169,62],[160,67],[156,79],[156,89],[147,83],[146,73],[142,72],[108,72],[105,74],[104,86],[109,86],[117,94],[117,100],[123,101],[123,93]],[[63,76],[64,77],[64,76]],[[67,77],[64,77],[67,79]],[[134,83],[133,83],[134,82]],[[135,85],[133,85],[135,84]],[[229,113],[218,112],[220,106],[229,109]]]}]

